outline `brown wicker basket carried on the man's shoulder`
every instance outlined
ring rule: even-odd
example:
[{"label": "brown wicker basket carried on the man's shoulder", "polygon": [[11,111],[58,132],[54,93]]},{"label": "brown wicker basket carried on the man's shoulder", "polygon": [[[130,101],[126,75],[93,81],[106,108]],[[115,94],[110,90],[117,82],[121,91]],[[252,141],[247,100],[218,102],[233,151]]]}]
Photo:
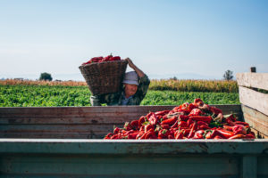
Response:
[{"label": "brown wicker basket carried on the man's shoulder", "polygon": [[116,93],[121,89],[128,61],[106,61],[80,66],[88,88],[93,95],[103,93]]}]

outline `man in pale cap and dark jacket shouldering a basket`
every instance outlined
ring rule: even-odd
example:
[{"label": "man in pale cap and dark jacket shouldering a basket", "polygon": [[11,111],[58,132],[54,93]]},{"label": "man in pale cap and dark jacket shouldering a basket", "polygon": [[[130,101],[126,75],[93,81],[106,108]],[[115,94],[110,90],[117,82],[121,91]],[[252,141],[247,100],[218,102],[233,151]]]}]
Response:
[{"label": "man in pale cap and dark jacket shouldering a basket", "polygon": [[139,105],[147,94],[150,80],[147,75],[133,64],[130,58],[126,59],[131,69],[123,78],[123,88],[118,93],[99,94],[90,97],[92,106],[101,106],[106,103],[108,106],[116,105]]}]

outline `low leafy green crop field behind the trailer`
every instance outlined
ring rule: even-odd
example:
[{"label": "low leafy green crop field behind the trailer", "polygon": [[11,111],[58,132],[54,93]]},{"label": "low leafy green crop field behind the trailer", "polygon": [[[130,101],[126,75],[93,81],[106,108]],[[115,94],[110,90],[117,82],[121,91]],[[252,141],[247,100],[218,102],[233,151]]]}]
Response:
[{"label": "low leafy green crop field behind the trailer", "polygon": [[[87,86],[0,85],[0,107],[90,106]],[[149,90],[141,105],[180,105],[201,98],[207,104],[239,104],[239,93]]]}]

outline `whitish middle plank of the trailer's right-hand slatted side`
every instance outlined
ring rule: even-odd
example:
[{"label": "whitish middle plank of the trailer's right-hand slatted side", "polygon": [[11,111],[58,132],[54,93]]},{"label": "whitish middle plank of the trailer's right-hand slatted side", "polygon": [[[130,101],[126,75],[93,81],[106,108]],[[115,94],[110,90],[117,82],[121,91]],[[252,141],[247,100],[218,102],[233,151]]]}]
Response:
[{"label": "whitish middle plank of the trailer's right-hand slatted side", "polygon": [[242,104],[268,116],[268,94],[255,92],[254,90],[239,86],[239,100]]}]

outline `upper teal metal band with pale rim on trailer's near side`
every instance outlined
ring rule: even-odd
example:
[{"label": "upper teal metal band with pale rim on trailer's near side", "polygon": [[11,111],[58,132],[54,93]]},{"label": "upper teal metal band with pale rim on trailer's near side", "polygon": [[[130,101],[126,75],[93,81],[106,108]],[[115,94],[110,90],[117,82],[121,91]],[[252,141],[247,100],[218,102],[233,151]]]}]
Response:
[{"label": "upper teal metal band with pale rim on trailer's near side", "polygon": [[0,153],[268,154],[268,140],[0,139]]}]

